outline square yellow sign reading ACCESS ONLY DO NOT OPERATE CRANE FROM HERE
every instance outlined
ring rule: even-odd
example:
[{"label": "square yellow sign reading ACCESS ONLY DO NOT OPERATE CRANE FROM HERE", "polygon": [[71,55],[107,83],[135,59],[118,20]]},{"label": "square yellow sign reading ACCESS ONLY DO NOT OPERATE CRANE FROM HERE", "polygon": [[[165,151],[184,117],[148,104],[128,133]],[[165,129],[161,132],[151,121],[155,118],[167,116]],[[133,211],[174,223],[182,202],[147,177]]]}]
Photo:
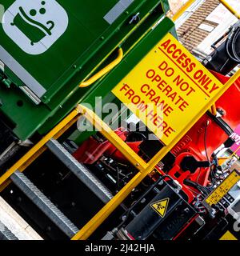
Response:
[{"label": "square yellow sign reading ACCESS ONLY DO NOT OPERATE CRANE FROM HERE", "polygon": [[167,34],[112,92],[169,145],[222,86]]}]

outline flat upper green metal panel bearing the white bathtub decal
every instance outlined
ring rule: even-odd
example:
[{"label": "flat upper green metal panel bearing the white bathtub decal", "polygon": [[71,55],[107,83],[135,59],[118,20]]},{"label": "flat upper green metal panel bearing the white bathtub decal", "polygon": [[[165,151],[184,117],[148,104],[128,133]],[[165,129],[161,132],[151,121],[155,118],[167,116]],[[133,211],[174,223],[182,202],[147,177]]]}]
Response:
[{"label": "flat upper green metal panel bearing the white bathtub decal", "polygon": [[[46,3],[41,6],[41,2]],[[44,100],[56,94],[64,86],[66,80],[74,74],[73,66],[82,66],[84,62],[87,62],[104,44],[103,41],[110,38],[116,27],[125,20],[125,17],[123,17],[114,25],[110,25],[104,19],[110,10],[114,10],[114,6],[119,2],[118,0],[60,0],[58,1],[58,8],[54,8],[56,9],[54,14],[47,9],[47,7],[50,9],[55,6],[55,3],[50,4],[51,2],[56,1],[3,0],[2,2],[6,8],[6,14],[3,30],[0,30],[1,46],[38,81],[39,86],[43,87],[42,90],[46,90],[44,94],[38,94]],[[122,2],[132,2],[130,7],[126,8],[130,11],[136,6],[142,6],[145,1],[122,0]],[[44,25],[46,26],[47,22],[53,22],[52,24],[56,29],[53,27],[50,32],[52,34],[46,34],[44,37],[42,30],[25,21],[19,8],[22,8],[26,16],[32,19],[41,16],[39,12],[41,8],[45,8],[46,14],[42,14],[42,16],[47,16]],[[62,10],[58,11],[58,9]],[[37,10],[38,14],[31,16],[33,10]],[[59,18],[58,13],[59,15],[65,13],[66,17]],[[39,18],[39,20],[41,19],[42,17]],[[58,22],[61,23],[58,25]],[[58,30],[60,30],[59,33]],[[50,47],[47,45],[47,40],[43,42],[47,37],[50,42],[56,40]],[[102,40],[103,38],[104,40]],[[34,41],[34,43],[31,41]],[[42,46],[42,44],[46,46]],[[14,69],[13,66],[9,67],[11,70]],[[32,88],[31,85],[27,86]]]}]

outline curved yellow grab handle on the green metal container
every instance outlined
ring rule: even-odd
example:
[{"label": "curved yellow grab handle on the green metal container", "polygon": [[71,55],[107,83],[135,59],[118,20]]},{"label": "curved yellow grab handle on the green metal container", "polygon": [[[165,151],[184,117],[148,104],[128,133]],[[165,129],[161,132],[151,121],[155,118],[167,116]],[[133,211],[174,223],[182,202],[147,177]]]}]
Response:
[{"label": "curved yellow grab handle on the green metal container", "polygon": [[107,65],[105,68],[103,68],[102,70],[100,70],[97,74],[94,74],[94,76],[92,76],[91,78],[89,78],[88,80],[86,80],[85,82],[82,82],[79,87],[83,88],[83,87],[87,87],[92,85],[94,82],[96,82],[99,78],[102,78],[102,76],[104,74],[107,74],[108,72],[110,72],[110,70],[112,70],[115,66],[117,66],[123,58],[123,51],[122,48],[118,49],[118,57],[111,62],[109,65]]}]

